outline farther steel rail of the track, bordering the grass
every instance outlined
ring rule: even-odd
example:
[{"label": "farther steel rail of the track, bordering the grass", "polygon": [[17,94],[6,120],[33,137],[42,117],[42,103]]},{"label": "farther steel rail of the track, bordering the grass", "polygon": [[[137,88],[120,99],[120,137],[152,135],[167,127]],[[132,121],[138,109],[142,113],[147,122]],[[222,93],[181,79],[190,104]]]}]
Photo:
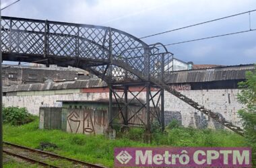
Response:
[{"label": "farther steel rail of the track, bordering the grass", "polygon": [[[40,154],[44,154],[44,155],[49,155],[49,156],[55,157],[57,159],[65,159],[65,160],[71,161],[73,163],[79,163],[79,164],[82,164],[82,165],[86,165],[89,168],[92,168],[92,167],[104,168],[103,166],[100,166],[100,165],[94,165],[92,163],[86,163],[84,161],[79,161],[77,159],[71,159],[69,157],[63,157],[63,156],[56,155],[56,154],[53,154],[53,153],[49,153],[49,152],[46,152],[46,151],[40,151],[38,149],[32,149],[32,148],[29,148],[29,147],[26,147],[26,146],[22,146],[22,145],[19,145],[19,144],[13,144],[13,143],[10,143],[10,142],[3,142],[3,144],[9,145],[9,146],[15,146],[15,147],[20,148],[20,149],[26,149],[28,151],[32,151],[32,152],[36,152],[36,153],[40,153]],[[17,154],[15,154],[15,155],[17,155]],[[24,157],[24,158],[26,158],[26,157]]]}]

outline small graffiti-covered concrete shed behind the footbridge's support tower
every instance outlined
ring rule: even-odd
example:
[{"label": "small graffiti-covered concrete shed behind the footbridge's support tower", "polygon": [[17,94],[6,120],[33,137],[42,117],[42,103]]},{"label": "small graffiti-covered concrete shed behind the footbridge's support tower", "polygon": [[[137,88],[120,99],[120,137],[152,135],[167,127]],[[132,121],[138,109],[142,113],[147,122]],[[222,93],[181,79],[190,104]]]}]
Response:
[{"label": "small graffiti-covered concrete shed behind the footbridge's support tower", "polygon": [[[108,126],[108,99],[98,99],[96,101],[59,101],[61,108],[41,107],[40,124],[41,129],[59,129],[71,133],[82,134],[104,134]],[[139,103],[133,102],[129,108],[128,115],[132,116],[134,112],[141,108]],[[113,115],[118,115],[119,120],[113,123],[121,124],[123,119],[119,114],[120,108],[124,103],[113,101]],[[132,112],[133,111],[133,112]],[[145,110],[137,113],[129,124],[143,125],[146,123]]]}]

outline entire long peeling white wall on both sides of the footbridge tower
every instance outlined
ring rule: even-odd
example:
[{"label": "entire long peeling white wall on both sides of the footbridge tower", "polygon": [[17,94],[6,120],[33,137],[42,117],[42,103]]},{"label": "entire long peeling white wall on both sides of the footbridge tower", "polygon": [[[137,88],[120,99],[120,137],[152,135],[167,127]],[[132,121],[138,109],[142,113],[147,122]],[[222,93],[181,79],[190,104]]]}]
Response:
[{"label": "entire long peeling white wall on both sides of the footbridge tower", "polygon": [[[30,93],[30,91],[23,92],[16,96],[3,97],[4,106],[20,106],[28,108],[31,114],[38,115],[40,106],[61,106],[57,100],[97,100],[108,98],[108,92],[102,93],[79,93],[74,89],[73,92],[69,91],[42,91],[42,95]],[[49,93],[49,95],[47,95]],[[240,119],[238,118],[237,111],[243,106],[236,100],[238,89],[211,89],[211,90],[183,90],[181,93],[187,97],[197,101],[206,108],[218,112],[218,115],[232,121],[233,124],[241,126]],[[128,96],[131,98],[131,95]],[[146,98],[146,92],[139,95],[140,99]],[[179,120],[184,126],[193,126],[196,128],[223,128],[217,122],[214,122],[201,112],[195,110],[187,105],[177,97],[170,93],[164,93],[164,111],[165,120],[170,122],[172,119]]]}]

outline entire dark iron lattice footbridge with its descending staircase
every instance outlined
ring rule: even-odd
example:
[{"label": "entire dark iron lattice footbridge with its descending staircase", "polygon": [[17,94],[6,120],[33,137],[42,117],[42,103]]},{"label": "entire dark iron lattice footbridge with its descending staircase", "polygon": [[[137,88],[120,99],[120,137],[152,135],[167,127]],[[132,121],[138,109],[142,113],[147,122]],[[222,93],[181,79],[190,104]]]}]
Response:
[{"label": "entire dark iron lattice footbridge with its descending staircase", "polygon": [[[149,87],[158,87],[162,95],[162,89],[165,89],[203,114],[243,134],[241,128],[221,120],[214,112],[199,106],[195,101],[164,83],[164,73],[172,71],[169,62],[173,54],[162,44],[148,45],[131,34],[102,26],[17,17],[2,17],[1,25],[3,60],[40,61],[46,65],[85,69],[108,83],[110,101],[113,93],[115,94],[113,87],[125,88],[142,83],[146,86],[146,102],[141,104],[143,108],[146,107],[148,118],[145,125],[148,130],[150,130],[151,116]],[[161,45],[162,50],[157,47]],[[159,104],[163,106],[163,98]],[[120,111],[123,115],[123,110]],[[111,105],[109,114],[111,114]],[[113,118],[110,118],[109,124],[112,120]],[[157,116],[156,120],[158,120]],[[125,125],[129,125],[129,120],[123,119],[123,121]],[[158,121],[163,126],[162,120]]]}]

